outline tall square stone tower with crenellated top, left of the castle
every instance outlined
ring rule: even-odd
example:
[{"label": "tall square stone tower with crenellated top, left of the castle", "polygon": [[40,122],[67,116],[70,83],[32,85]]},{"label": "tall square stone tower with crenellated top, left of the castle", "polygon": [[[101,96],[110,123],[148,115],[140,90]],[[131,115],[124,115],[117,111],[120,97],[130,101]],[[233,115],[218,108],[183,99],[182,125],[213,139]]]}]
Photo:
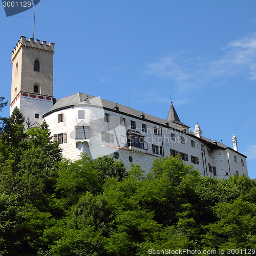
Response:
[{"label": "tall square stone tower with crenellated top, left of the castle", "polygon": [[54,44],[20,37],[12,51],[12,114],[15,106],[25,117],[25,128],[37,126],[53,105]]}]

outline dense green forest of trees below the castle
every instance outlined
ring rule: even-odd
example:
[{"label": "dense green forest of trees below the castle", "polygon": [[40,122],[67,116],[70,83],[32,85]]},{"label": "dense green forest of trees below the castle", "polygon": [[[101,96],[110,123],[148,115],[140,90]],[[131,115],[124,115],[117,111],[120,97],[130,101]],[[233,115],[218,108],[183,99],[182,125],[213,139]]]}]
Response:
[{"label": "dense green forest of trees below the castle", "polygon": [[18,109],[2,120],[0,255],[255,249],[255,180],[201,177],[172,156],[148,175],[110,156],[71,161],[45,122],[25,133]]}]

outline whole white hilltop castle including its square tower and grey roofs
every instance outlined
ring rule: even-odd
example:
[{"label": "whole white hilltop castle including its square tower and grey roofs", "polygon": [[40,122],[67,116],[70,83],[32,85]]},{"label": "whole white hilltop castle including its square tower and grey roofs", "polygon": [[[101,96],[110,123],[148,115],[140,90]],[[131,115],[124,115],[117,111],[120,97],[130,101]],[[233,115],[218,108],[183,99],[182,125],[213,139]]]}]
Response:
[{"label": "whole white hilltop castle including its square tower and grey roofs", "polygon": [[155,159],[179,155],[203,176],[248,177],[246,156],[233,148],[202,136],[198,123],[194,132],[182,123],[171,102],[167,119],[134,110],[125,105],[76,93],[53,97],[54,44],[20,37],[12,52],[12,113],[15,106],[25,116],[25,127],[49,125],[54,141],[59,141],[63,157],[78,159],[113,155],[125,165],[140,164],[146,173]]}]

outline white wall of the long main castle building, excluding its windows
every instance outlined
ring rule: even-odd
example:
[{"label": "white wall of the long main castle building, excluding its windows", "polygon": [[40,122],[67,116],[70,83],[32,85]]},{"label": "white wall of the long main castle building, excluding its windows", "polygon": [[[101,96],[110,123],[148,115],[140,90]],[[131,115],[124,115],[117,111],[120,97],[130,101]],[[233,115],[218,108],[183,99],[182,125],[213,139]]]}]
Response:
[{"label": "white wall of the long main castle building, excluding its windows", "polygon": [[[84,110],[85,118],[78,119],[78,110]],[[58,114],[63,113],[63,122],[57,122]],[[110,114],[110,122],[104,122],[104,113]],[[125,118],[126,126],[120,125],[120,117]],[[92,158],[102,155],[113,155],[114,152],[119,153],[119,159],[122,159],[126,166],[130,166],[129,157],[132,156],[134,164],[140,164],[143,169],[148,173],[152,167],[154,159],[162,158],[163,156],[153,154],[152,144],[162,146],[164,156],[170,153],[170,148],[172,150],[188,154],[188,161],[184,161],[185,164],[193,165],[202,175],[207,175],[211,177],[218,178],[228,178],[229,177],[229,165],[228,156],[225,149],[215,149],[211,152],[211,156],[208,156],[207,147],[202,141],[200,141],[195,136],[190,136],[189,134],[183,134],[167,129],[159,125],[148,122],[145,119],[137,119],[126,115],[121,115],[117,112],[112,112],[108,110],[103,110],[102,108],[95,110],[94,107],[89,106],[74,106],[72,108],[63,109],[56,111],[45,117],[47,123],[49,124],[50,130],[53,134],[67,133],[67,142],[60,144],[63,148],[63,156],[70,159],[78,159],[80,153],[88,153]],[[136,131],[143,134],[144,141],[148,142],[148,150],[141,150],[139,148],[130,148],[126,144],[120,145],[123,138],[126,138],[126,131],[130,129],[131,120],[136,121]],[[75,138],[75,125],[80,121],[84,121],[84,125],[90,126],[90,138],[86,140],[80,140]],[[147,133],[142,132],[142,123],[147,125]],[[157,126],[160,130],[159,135],[154,135],[154,127]],[[106,143],[101,141],[101,132],[109,132],[114,134],[114,143]],[[172,141],[170,133],[175,134],[175,142]],[[181,143],[181,136],[185,138],[185,144]],[[121,139],[122,137],[122,139]],[[163,138],[163,144],[162,144]],[[195,141],[195,147],[191,146],[191,140]],[[204,146],[204,152],[201,150],[201,144]],[[132,149],[132,150],[131,150]],[[135,151],[134,151],[135,150]],[[136,150],[139,153],[136,153]],[[202,159],[203,153],[203,159]],[[247,174],[246,159],[242,157],[239,153],[235,153],[229,150],[229,154],[236,154],[238,162],[241,159],[244,160],[244,166],[239,166],[239,175]],[[191,162],[190,156],[198,157],[199,164],[194,164]],[[214,176],[214,171],[209,172],[208,164],[212,167],[216,167],[216,176]],[[237,163],[238,164],[238,163]],[[236,165],[230,161],[230,173],[231,175],[236,174]],[[228,173],[228,175],[226,175]]]}]

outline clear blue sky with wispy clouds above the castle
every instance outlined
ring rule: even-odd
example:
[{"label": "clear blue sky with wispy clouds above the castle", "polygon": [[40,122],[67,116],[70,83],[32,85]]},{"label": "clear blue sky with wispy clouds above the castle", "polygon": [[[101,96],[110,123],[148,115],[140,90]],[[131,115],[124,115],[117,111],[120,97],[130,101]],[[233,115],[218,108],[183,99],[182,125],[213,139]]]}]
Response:
[{"label": "clear blue sky with wispy clouds above the castle", "polygon": [[[100,96],[182,122],[245,154],[256,178],[256,1],[41,0],[35,39],[55,43],[54,97]],[[0,95],[10,100],[11,51],[33,37],[33,9],[0,8]],[[9,106],[1,113],[9,115]]]}]

